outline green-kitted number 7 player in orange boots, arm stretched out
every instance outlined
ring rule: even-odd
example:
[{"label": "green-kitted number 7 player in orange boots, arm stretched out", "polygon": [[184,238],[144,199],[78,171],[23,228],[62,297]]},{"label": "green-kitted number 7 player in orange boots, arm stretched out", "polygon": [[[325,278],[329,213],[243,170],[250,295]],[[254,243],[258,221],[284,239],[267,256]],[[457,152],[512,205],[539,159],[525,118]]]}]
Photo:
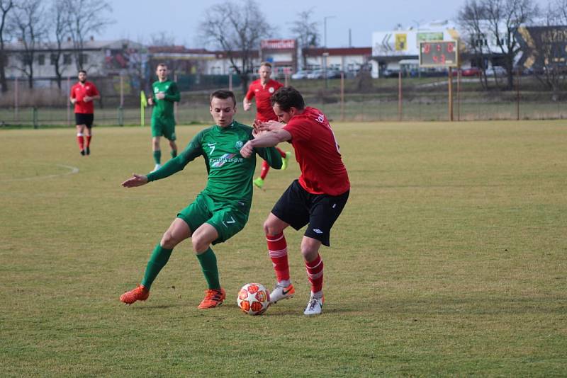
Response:
[{"label": "green-kitted number 7 player in orange boots, arm stretched out", "polygon": [[[189,161],[203,156],[208,172],[206,188],[196,199],[177,214],[162,240],[155,246],[147,263],[141,285],[125,292],[120,301],[133,304],[145,301],[150,295],[150,286],[169,260],[173,248],[191,237],[208,290],[199,304],[199,309],[217,307],[225,299],[225,290],[220,287],[217,260],[210,244],[230,239],[244,228],[252,205],[252,178],[256,168],[256,155],[252,159],[240,156],[240,149],[254,139],[253,128],[236,122],[235,95],[231,91],[215,91],[210,95],[210,114],[215,125],[202,130],[189,142],[186,149],[162,168],[147,176],[134,174],[122,183],[126,188],[145,185],[150,181],[166,178],[181,171]],[[254,149],[262,159],[279,169],[281,155],[274,147]]]}]

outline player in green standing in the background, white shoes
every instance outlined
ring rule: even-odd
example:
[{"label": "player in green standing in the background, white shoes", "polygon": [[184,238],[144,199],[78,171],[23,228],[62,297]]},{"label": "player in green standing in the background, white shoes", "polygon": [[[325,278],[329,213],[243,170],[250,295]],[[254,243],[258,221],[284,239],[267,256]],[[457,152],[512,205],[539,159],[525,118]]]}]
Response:
[{"label": "player in green standing in the background, white shoes", "polygon": [[169,147],[172,147],[172,158],[177,156],[177,145],[175,144],[175,116],[173,110],[174,102],[179,102],[181,98],[177,84],[167,79],[167,66],[165,64],[157,64],[155,74],[157,75],[157,81],[152,84],[153,97],[147,99],[147,103],[154,105],[154,110],[152,111],[154,171],[162,166],[162,149],[159,146],[159,137],[162,135],[169,140]]}]

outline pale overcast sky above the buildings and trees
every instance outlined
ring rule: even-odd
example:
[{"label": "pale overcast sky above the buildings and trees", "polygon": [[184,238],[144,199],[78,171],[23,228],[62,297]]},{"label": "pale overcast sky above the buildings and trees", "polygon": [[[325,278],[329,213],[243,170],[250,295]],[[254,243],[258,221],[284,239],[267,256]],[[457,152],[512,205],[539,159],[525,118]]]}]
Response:
[{"label": "pale overcast sky above the buildings and trees", "polygon": [[[243,4],[241,0],[232,0]],[[539,6],[548,0],[535,0]],[[198,23],[205,10],[223,0],[120,0],[112,4],[111,17],[116,23],[96,36],[101,40],[129,38],[148,43],[150,35],[165,32],[175,38],[176,45],[189,48],[203,47],[196,35]],[[401,23],[403,28],[437,20],[451,20],[465,4],[465,0],[283,0],[259,1],[266,20],[274,25],[274,38],[291,38],[291,23],[301,11],[311,10],[312,21],[320,25],[324,40],[324,18],[327,17],[327,46],[349,45],[349,29],[354,47],[370,47],[374,31],[393,30]],[[219,9],[220,11],[220,9]]]}]

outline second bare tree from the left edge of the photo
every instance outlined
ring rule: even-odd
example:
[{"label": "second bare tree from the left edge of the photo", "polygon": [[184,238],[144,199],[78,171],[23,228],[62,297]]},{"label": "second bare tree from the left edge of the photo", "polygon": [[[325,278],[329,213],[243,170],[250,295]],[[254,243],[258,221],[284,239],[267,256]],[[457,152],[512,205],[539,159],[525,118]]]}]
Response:
[{"label": "second bare tree from the left edge of the photo", "polygon": [[17,68],[28,77],[28,87],[33,88],[33,68],[36,52],[47,32],[42,0],[23,0],[14,8],[9,26],[18,38],[21,49],[16,54],[21,65]]}]

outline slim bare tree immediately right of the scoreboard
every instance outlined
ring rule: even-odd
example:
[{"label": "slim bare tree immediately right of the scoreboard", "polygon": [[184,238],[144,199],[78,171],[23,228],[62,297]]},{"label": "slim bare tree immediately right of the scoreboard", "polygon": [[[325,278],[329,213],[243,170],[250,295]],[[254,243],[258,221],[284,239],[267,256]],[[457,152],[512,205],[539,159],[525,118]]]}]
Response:
[{"label": "slim bare tree immediately right of the scoreboard", "polygon": [[488,89],[485,59],[490,55],[488,36],[485,29],[485,8],[480,1],[466,1],[457,14],[457,23],[464,32],[466,50],[471,53],[476,66],[481,69],[481,84]]}]

